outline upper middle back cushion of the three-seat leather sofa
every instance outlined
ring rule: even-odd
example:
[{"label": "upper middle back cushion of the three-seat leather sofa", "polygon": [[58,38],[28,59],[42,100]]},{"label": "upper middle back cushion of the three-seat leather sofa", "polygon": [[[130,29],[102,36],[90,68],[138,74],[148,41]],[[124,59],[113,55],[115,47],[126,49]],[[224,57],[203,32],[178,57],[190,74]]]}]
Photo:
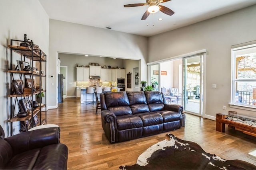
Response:
[{"label": "upper middle back cushion of the three-seat leather sofa", "polygon": [[130,105],[134,104],[147,104],[144,92],[126,92],[130,101]]}]

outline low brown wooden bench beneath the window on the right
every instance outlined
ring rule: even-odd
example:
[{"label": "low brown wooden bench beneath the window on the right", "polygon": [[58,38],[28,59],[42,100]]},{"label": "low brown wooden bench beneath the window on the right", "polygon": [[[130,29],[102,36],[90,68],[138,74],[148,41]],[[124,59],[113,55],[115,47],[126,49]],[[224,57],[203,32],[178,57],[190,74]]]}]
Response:
[{"label": "low brown wooden bench beneath the window on the right", "polygon": [[[240,123],[237,121],[232,121],[232,120],[226,119],[226,117],[228,117],[228,115],[224,115],[221,113],[216,114],[216,131],[225,132],[225,124],[227,124],[228,127],[232,127],[247,135],[256,137],[256,127],[253,127],[251,125],[247,125],[244,123]],[[243,118],[237,118],[237,119],[242,120]],[[247,120],[247,121],[250,121],[250,120]]]}]

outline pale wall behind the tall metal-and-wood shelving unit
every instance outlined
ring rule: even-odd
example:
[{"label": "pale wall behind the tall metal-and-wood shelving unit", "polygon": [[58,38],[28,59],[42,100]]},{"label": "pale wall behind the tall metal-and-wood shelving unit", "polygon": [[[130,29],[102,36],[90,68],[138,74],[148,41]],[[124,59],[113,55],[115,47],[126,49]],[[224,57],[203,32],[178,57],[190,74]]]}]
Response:
[{"label": "pale wall behind the tall metal-and-wood shelving unit", "polygon": [[[39,45],[48,55],[49,18],[37,0],[1,0],[0,3],[0,125],[6,135],[10,135],[10,74],[6,70],[10,67],[10,39],[23,40],[26,33],[29,39]],[[16,65],[14,53],[13,64]],[[15,127],[14,131],[19,129]]]}]

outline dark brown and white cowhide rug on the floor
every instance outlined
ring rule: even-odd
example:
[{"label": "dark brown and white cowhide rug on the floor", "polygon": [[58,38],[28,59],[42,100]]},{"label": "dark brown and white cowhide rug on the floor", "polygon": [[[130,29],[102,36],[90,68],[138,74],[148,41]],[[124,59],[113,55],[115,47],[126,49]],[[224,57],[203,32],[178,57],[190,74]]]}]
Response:
[{"label": "dark brown and white cowhide rug on the floor", "polygon": [[143,152],[137,163],[120,166],[119,170],[256,170],[256,166],[242,160],[225,160],[206,153],[197,143],[184,141],[167,134]]}]

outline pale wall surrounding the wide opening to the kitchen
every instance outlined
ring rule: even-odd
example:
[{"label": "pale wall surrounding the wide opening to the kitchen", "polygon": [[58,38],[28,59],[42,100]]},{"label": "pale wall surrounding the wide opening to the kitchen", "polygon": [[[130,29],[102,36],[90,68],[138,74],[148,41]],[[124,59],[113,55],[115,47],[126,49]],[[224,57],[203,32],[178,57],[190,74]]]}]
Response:
[{"label": "pale wall surrounding the wide opening to the kitchen", "polygon": [[[147,37],[50,20],[49,74],[56,75],[57,73],[56,59],[58,58],[58,52],[137,59],[142,61],[141,64],[146,64],[147,45]],[[146,66],[142,66],[141,70],[146,72]],[[56,82],[56,76],[49,79],[49,93],[55,96],[49,101],[51,108],[57,107]]]}]

